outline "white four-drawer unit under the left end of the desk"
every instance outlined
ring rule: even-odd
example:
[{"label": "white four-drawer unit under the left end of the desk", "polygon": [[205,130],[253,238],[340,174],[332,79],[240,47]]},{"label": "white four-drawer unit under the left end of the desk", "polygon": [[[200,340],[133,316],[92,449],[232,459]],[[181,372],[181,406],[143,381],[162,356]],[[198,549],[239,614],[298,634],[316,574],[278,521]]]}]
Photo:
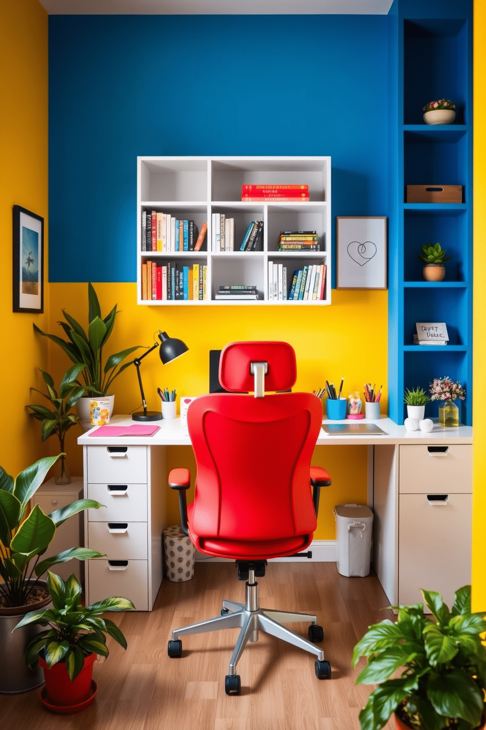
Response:
[{"label": "white four-drawer unit under the left end of the desk", "polygon": [[[85,512],[87,601],[130,599],[151,611],[162,581],[165,450],[133,445],[84,447],[85,496],[103,504]],[[154,488],[152,488],[154,486]]]}]

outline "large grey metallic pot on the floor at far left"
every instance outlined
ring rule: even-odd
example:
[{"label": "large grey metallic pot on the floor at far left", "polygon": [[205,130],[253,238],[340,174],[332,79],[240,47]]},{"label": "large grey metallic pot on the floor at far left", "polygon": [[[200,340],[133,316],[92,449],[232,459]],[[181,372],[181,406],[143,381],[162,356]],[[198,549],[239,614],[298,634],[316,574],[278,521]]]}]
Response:
[{"label": "large grey metallic pot on the floor at far left", "polygon": [[8,657],[8,661],[0,662],[0,694],[28,692],[44,684],[42,669],[29,669],[26,664],[26,646],[44,627],[28,624],[13,631],[29,611],[52,607],[46,581],[40,580],[39,585],[46,590],[44,599],[27,606],[0,608],[0,656]]}]

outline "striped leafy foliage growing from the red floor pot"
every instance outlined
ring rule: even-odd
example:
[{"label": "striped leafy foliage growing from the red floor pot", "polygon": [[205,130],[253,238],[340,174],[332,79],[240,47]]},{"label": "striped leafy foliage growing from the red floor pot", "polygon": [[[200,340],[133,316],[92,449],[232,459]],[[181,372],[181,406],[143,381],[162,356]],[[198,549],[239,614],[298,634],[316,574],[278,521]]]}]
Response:
[{"label": "striped leafy foliage growing from the red floor pot", "polygon": [[131,601],[126,598],[108,598],[91,606],[82,606],[82,588],[74,575],[64,583],[58,575],[47,571],[47,585],[52,608],[31,611],[15,626],[15,629],[31,623],[49,626],[36,634],[27,645],[28,666],[34,666],[42,652],[49,667],[64,661],[72,682],[79,675],[88,654],[109,655],[106,634],[124,649],[127,648],[126,639],[116,623],[101,618],[101,614],[106,611],[135,610]]}]

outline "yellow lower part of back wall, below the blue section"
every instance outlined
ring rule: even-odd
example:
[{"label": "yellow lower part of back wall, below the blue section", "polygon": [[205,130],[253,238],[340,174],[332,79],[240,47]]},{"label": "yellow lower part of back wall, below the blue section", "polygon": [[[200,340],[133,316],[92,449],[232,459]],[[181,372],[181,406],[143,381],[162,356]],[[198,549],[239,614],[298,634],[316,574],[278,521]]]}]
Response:
[{"label": "yellow lower part of back wall, below the blue section", "polygon": [[[384,386],[383,412],[388,407],[387,369],[387,292],[333,291],[331,307],[138,307],[135,284],[95,283],[106,315],[114,304],[120,310],[106,355],[132,345],[154,342],[159,329],[187,342],[189,352],[162,366],[157,353],[146,358],[141,374],[147,405],[160,407],[157,385],[176,388],[178,396],[195,396],[208,392],[208,351],[220,349],[235,339],[285,339],[297,353],[297,390],[314,390],[327,380],[339,383],[345,376],[343,393],[363,390],[365,380]],[[50,331],[62,335],[57,322],[61,310],[87,326],[87,285],[50,284]],[[369,322],[374,333],[368,337]],[[52,374],[60,377],[69,361],[52,345]],[[55,370],[57,368],[57,370]],[[114,380],[115,412],[128,413],[141,407],[135,368],[128,368]],[[178,409],[179,410],[179,409]],[[39,424],[40,427],[40,424]],[[81,447],[77,446],[78,427],[71,429],[66,441],[71,471],[82,474]],[[71,439],[69,439],[71,437]],[[54,444],[53,444],[54,445]],[[184,451],[186,453],[184,453]],[[181,462],[184,458],[184,463]],[[170,466],[184,466],[189,450],[172,449]],[[334,539],[332,507],[340,502],[366,502],[366,447],[320,447],[315,463],[332,474],[332,490],[321,495],[316,539]],[[189,464],[187,464],[189,466]],[[178,519],[176,499],[169,496],[171,520]]]}]

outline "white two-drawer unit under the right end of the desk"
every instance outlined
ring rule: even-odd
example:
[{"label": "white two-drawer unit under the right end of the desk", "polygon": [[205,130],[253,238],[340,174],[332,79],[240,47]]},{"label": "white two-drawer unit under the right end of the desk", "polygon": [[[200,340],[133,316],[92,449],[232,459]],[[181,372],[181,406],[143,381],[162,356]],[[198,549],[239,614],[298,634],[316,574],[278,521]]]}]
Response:
[{"label": "white two-drawer unit under the right end of the desk", "polygon": [[471,583],[471,452],[447,438],[375,446],[374,563],[393,606],[422,603],[426,588],[451,607]]}]

